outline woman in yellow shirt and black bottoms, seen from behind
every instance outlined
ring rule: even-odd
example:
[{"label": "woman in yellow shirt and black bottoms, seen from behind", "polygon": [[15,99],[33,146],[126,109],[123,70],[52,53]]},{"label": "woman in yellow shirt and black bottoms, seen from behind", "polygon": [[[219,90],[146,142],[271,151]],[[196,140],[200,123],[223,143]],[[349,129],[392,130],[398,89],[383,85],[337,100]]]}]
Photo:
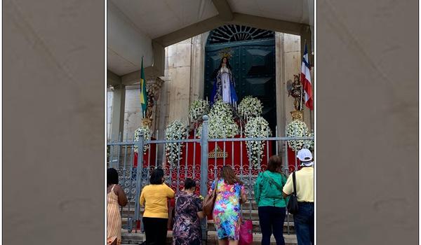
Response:
[{"label": "woman in yellow shirt and black bottoms, seen from behind", "polygon": [[163,183],[163,170],[154,169],[150,184],[140,194],[140,205],[145,207],[143,227],[146,244],[165,244],[168,224],[168,198],[174,198],[174,190]]}]

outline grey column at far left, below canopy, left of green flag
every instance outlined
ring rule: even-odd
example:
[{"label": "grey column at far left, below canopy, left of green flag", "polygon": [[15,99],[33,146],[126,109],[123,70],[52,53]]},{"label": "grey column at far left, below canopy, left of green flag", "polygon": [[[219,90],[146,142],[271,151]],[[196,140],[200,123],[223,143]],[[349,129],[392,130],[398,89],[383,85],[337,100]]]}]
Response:
[{"label": "grey column at far left, below canopy, left of green flag", "polygon": [[124,104],[126,102],[126,86],[114,85],[111,113],[111,139],[123,139]]}]

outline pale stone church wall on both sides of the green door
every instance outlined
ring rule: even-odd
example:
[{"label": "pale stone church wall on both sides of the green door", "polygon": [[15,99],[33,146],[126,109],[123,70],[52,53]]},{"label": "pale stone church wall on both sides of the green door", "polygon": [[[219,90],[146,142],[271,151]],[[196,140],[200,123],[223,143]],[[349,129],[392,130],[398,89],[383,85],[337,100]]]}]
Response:
[{"label": "pale stone church wall on both sides of the green door", "polygon": [[[159,91],[152,118],[152,129],[163,131],[173,120],[187,121],[189,104],[203,97],[204,56],[208,33],[194,36],[168,46],[166,52],[164,83]],[[286,83],[293,74],[301,71],[300,36],[276,33],[276,114],[279,136],[285,135],[285,126],[294,110],[293,97],[288,97]],[[314,81],[313,71],[312,80]],[[124,111],[124,139],[133,139],[135,129],[141,122],[140,89],[138,85],[126,86]],[[313,128],[314,113],[305,107],[305,123]],[[155,135],[156,137],[156,135]]]}]

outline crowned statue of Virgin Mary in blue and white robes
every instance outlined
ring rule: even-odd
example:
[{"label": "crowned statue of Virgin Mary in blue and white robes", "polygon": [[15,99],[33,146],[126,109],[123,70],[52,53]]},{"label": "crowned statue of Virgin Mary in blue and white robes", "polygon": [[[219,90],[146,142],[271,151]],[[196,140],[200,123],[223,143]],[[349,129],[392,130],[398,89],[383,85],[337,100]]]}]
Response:
[{"label": "crowned statue of Virgin Mary in blue and white robes", "polygon": [[234,105],[238,101],[238,97],[235,92],[234,77],[228,55],[222,56],[220,66],[215,70],[214,76],[215,83],[213,83],[212,94],[210,94],[210,104],[222,99],[223,102]]}]

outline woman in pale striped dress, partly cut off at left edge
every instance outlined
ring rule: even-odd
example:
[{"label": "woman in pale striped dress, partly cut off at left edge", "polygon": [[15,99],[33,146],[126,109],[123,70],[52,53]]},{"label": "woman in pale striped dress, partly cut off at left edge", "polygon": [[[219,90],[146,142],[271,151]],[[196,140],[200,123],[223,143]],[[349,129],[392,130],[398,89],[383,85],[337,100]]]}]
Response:
[{"label": "woman in pale striped dress, partly cut off at left edge", "polygon": [[120,206],[127,204],[124,190],[119,186],[116,169],[107,169],[107,245],[121,244]]}]

